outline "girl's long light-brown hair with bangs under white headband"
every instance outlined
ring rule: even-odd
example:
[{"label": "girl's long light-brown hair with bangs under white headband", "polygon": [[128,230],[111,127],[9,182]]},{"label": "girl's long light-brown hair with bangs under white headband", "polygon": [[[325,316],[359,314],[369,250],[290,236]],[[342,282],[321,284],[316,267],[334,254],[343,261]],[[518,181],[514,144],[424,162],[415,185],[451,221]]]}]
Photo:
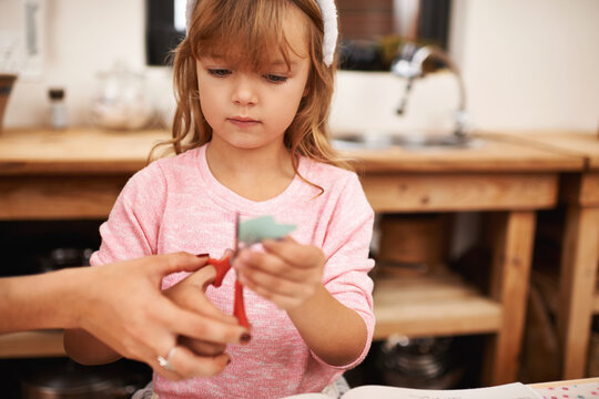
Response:
[{"label": "girl's long light-brown hair with bangs under white headband", "polygon": [[[161,144],[171,144],[175,154],[180,154],[212,139],[212,127],[202,114],[197,93],[195,63],[201,55],[212,55],[219,49],[219,55],[260,70],[271,60],[273,49],[278,49],[290,64],[293,49],[283,27],[290,7],[296,7],[305,16],[311,71],[307,93],[285,132],[284,144],[293,155],[351,168],[328,141],[336,58],[331,66],[323,61],[323,19],[314,0],[199,0],[189,33],[173,52],[176,111],[172,139]],[[297,156],[292,158],[298,173]]]}]

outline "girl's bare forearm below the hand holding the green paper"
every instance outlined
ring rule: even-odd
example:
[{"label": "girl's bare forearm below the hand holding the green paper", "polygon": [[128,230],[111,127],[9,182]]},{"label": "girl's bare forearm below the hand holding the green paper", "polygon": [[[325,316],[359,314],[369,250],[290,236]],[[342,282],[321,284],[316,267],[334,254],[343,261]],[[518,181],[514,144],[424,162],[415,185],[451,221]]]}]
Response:
[{"label": "girl's bare forearm below the hand holding the green paper", "polygon": [[323,285],[304,305],[287,314],[309,349],[329,365],[353,362],[366,346],[368,334],[363,318]]}]

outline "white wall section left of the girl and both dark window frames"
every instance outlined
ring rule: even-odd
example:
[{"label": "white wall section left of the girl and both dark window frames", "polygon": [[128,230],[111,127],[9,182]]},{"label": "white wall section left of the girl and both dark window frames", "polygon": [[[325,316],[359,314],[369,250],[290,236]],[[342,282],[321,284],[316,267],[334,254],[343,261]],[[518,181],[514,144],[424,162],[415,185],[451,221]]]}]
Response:
[{"label": "white wall section left of the girl and both dark window frames", "polygon": [[[98,72],[112,68],[118,60],[132,69],[145,68],[144,0],[44,1],[44,72],[17,81],[6,126],[48,123],[50,86],[65,88],[70,122],[87,124]],[[0,0],[0,14],[8,2],[21,0]]]}]

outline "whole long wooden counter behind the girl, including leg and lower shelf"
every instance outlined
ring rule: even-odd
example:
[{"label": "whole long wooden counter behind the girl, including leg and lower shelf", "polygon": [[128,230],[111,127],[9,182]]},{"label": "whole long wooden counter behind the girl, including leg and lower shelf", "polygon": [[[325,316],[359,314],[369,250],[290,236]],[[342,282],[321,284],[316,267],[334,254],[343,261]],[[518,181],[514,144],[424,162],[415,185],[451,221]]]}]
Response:
[{"label": "whole long wooden counter behind the girl, including leg and lower shelf", "polygon": [[[0,219],[106,217],[124,182],[165,132],[7,131],[0,135]],[[375,338],[489,334],[485,383],[516,380],[537,209],[579,156],[491,136],[471,149],[348,152],[378,213],[484,211],[496,215],[490,296],[458,276],[382,282]],[[415,295],[426,291],[428,295]],[[0,346],[1,346],[0,341]],[[7,355],[8,356],[8,355]]]}]

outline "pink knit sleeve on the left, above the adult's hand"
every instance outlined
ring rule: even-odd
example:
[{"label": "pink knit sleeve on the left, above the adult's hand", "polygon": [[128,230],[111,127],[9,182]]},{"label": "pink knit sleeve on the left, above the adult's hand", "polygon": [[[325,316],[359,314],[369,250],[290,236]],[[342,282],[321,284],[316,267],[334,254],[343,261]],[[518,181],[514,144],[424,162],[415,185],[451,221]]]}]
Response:
[{"label": "pink knit sleeve on the left, above the adult's hand", "polygon": [[116,198],[106,222],[100,226],[102,244],[91,265],[156,254],[165,183],[156,163],[133,175]]}]

